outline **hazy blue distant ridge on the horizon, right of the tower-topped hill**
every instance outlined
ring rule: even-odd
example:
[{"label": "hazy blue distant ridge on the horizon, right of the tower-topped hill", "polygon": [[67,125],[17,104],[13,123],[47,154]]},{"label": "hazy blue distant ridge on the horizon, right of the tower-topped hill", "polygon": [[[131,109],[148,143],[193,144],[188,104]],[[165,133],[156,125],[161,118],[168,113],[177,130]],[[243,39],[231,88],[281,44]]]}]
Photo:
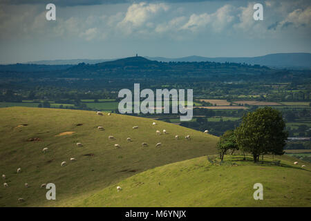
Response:
[{"label": "hazy blue distant ridge on the horizon, right of the tower-topped hill", "polygon": [[311,68],[311,53],[277,53],[258,57],[200,57],[189,56],[180,58],[146,57],[155,61],[211,61],[211,62],[232,62],[245,64],[258,64],[273,68]]}]

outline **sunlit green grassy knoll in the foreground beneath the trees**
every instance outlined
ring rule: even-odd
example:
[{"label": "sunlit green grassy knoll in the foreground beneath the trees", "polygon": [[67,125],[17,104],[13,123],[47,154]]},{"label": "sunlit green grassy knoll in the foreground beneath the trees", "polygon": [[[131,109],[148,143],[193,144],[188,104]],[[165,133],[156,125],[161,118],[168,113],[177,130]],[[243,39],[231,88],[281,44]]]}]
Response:
[{"label": "sunlit green grassy knoll in the foreground beneath the trees", "polygon": [[[226,156],[224,164],[207,157],[150,169],[66,206],[311,206],[311,164],[274,157],[281,166],[252,158]],[[303,169],[301,165],[305,164]],[[263,184],[263,200],[254,200],[255,183]],[[117,191],[121,186],[122,191]]]}]

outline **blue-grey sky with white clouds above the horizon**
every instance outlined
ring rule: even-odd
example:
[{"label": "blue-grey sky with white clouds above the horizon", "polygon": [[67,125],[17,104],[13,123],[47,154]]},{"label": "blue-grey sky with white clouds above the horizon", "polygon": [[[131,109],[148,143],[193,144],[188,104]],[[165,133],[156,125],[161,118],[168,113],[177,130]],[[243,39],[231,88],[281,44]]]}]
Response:
[{"label": "blue-grey sky with white clouds above the horizon", "polygon": [[[46,19],[48,3],[56,21]],[[310,0],[0,0],[0,64],[311,52],[310,21]]]}]

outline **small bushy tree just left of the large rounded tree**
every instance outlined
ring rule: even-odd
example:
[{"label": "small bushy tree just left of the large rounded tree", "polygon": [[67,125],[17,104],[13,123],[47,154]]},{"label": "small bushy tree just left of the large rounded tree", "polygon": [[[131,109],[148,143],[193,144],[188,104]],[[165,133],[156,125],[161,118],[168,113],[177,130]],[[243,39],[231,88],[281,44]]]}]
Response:
[{"label": "small bushy tree just left of the large rounded tree", "polygon": [[236,144],[236,135],[234,135],[234,131],[226,131],[222,136],[220,136],[220,140],[216,145],[218,153],[220,155],[220,159],[223,160],[223,156],[227,154],[229,149],[233,152],[238,149],[238,145]]}]

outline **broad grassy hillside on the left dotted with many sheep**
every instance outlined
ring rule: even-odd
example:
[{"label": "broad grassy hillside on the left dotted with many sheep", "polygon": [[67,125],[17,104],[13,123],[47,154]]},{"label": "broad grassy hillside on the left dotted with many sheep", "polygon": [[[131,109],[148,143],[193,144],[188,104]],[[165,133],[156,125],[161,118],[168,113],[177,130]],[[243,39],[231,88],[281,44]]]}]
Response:
[{"label": "broad grassy hillside on the left dotted with many sheep", "polygon": [[[1,183],[0,206],[76,202],[135,173],[214,154],[218,141],[218,137],[174,124],[157,122],[153,126],[153,119],[106,113],[100,116],[93,111],[11,107],[1,108],[0,116],[0,175],[6,175],[9,185],[4,188]],[[104,131],[97,126],[103,126]],[[156,135],[156,130],[163,129],[167,135]],[[75,133],[55,136],[68,131]],[[191,135],[190,141],[184,138],[187,134]],[[115,140],[109,140],[109,135]],[[180,140],[175,135],[180,135]],[[84,146],[77,147],[77,142]],[[142,147],[142,142],[149,146]],[[156,148],[158,142],[162,143],[160,148]],[[45,147],[47,153],[42,152]],[[70,162],[70,157],[77,161]],[[61,166],[63,161],[67,166]],[[21,173],[17,174],[19,167]],[[26,182],[28,189],[24,188]],[[47,190],[40,189],[48,182],[56,185],[57,200],[46,200]],[[19,203],[18,198],[26,202]]]}]

